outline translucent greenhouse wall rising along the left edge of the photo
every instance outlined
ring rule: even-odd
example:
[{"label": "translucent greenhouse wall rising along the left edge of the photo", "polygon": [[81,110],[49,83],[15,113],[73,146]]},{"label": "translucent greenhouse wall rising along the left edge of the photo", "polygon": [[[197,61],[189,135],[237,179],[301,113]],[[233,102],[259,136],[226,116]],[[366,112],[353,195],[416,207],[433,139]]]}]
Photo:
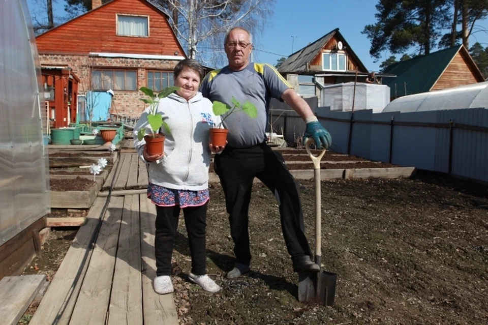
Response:
[{"label": "translucent greenhouse wall rising along the left edge of the photo", "polygon": [[50,210],[40,76],[26,1],[0,1],[0,245]]}]

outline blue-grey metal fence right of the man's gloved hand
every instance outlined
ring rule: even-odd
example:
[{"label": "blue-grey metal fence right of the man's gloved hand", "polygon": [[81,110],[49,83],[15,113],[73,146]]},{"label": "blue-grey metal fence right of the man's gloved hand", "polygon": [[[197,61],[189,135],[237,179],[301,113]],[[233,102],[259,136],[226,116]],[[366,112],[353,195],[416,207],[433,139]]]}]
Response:
[{"label": "blue-grey metal fence right of the man's gloved hand", "polygon": [[488,110],[335,112],[316,108],[334,151],[488,182]]}]

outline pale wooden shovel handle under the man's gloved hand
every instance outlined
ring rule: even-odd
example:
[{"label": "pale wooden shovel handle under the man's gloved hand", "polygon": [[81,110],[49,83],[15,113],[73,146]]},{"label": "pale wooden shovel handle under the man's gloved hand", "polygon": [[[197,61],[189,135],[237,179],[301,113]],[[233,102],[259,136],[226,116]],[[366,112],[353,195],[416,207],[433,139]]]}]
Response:
[{"label": "pale wooden shovel handle under the man's gloved hand", "polygon": [[320,195],[320,160],[325,154],[325,149],[317,156],[314,156],[310,151],[310,144],[315,142],[314,139],[308,138],[305,142],[305,149],[309,154],[310,159],[314,163],[314,183],[315,183],[315,263],[320,267],[322,253],[320,251],[322,247],[322,198]]}]

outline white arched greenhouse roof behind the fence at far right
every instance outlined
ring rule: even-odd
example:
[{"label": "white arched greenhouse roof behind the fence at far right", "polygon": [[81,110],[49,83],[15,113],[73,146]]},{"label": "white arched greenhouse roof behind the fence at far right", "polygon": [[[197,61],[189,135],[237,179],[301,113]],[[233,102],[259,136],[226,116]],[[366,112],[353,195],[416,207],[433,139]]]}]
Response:
[{"label": "white arched greenhouse roof behind the fence at far right", "polygon": [[446,109],[488,108],[488,82],[397,98],[383,112],[420,112]]}]

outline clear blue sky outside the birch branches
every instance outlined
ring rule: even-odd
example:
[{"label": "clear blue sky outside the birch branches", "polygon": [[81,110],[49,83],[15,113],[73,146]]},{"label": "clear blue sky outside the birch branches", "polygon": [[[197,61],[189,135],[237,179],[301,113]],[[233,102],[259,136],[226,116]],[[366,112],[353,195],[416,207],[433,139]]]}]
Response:
[{"label": "clear blue sky outside the birch branches", "polygon": [[[35,0],[27,0],[29,10]],[[382,61],[391,54],[385,52],[378,62],[370,56],[370,40],[361,34],[364,26],[376,22],[377,0],[276,0],[274,14],[262,35],[255,36],[253,61],[276,64],[282,56],[316,41],[335,28],[344,36],[349,46],[370,71],[378,71]],[[64,0],[54,2],[54,16],[64,15]],[[488,19],[478,25],[488,29]],[[488,34],[476,33],[470,37],[488,46]],[[433,49],[432,51],[435,51]],[[413,49],[408,54],[413,53]],[[399,59],[402,55],[396,55]]]}]

